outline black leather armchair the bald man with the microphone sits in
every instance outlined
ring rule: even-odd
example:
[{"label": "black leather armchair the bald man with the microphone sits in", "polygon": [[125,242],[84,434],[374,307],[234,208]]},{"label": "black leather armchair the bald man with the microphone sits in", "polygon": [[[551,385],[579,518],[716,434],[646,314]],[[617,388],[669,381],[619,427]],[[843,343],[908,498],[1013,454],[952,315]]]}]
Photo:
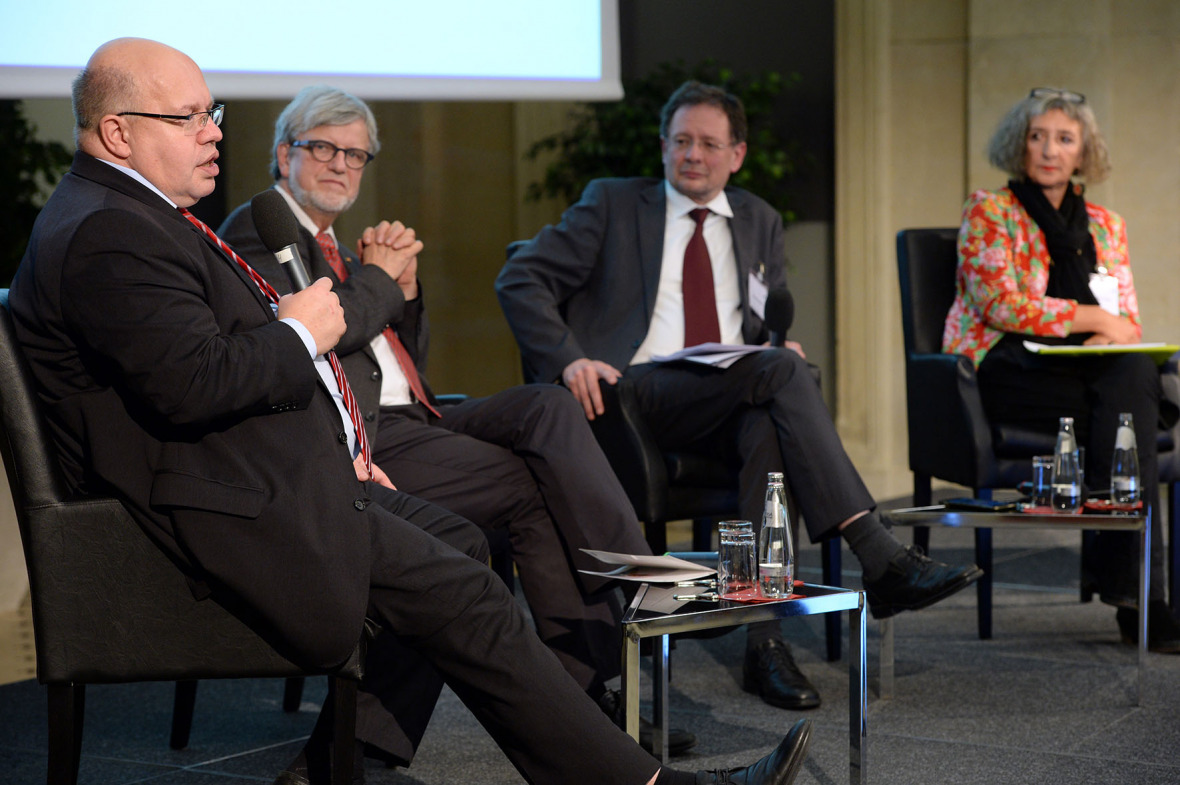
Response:
[{"label": "black leather armchair the bald man with the microphone sits in", "polygon": [[[177,681],[175,746],[177,734],[186,740],[194,680],[312,672],[221,604],[195,600],[120,502],[70,493],[7,305],[0,289],[0,452],[28,568],[37,678],[48,688],[47,781],[76,785],[87,683]],[[341,785],[352,781],[361,648],[330,674]]]}]

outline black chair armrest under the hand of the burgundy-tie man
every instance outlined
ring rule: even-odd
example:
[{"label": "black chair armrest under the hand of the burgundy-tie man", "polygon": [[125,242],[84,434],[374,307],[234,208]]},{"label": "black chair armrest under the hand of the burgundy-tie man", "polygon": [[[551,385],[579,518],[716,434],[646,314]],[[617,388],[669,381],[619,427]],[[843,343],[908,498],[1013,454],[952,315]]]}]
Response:
[{"label": "black chair armrest under the hand of the burgundy-tie man", "polygon": [[604,413],[590,423],[598,446],[627,491],[641,521],[666,521],[668,469],[655,436],[648,429],[635,387],[627,379],[601,384]]}]

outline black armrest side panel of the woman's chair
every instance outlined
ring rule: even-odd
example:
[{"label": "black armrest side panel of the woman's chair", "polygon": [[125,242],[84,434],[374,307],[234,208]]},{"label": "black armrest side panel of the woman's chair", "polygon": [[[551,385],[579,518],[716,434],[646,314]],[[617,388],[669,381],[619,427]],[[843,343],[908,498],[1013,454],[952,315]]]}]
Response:
[{"label": "black armrest side panel of the woman's chair", "polygon": [[911,354],[905,371],[910,469],[986,486],[992,439],[975,365],[961,354]]}]

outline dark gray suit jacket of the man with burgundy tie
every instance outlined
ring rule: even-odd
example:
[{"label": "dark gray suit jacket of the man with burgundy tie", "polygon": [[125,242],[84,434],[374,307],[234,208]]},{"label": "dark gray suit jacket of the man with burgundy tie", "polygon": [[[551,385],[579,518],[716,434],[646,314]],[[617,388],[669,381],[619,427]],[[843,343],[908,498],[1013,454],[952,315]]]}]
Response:
[{"label": "dark gray suit jacket of the man with burgundy tie", "polygon": [[[738,260],[742,335],[767,338],[748,303],[748,275],[786,286],[782,220],[759,197],[727,188]],[[553,381],[578,358],[623,369],[651,323],[664,235],[662,179],[596,179],[556,227],[507,261],[496,294],[524,360],[526,381]]]}]

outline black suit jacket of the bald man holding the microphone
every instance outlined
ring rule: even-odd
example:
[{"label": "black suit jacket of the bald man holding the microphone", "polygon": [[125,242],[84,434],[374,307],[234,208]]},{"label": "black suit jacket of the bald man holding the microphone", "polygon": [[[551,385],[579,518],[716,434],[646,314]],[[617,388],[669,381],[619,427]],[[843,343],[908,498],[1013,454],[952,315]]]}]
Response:
[{"label": "black suit jacket of the bald man holding the microphone", "polygon": [[297,334],[158,195],[79,152],[9,297],[71,485],[112,492],[299,661],[360,640],[366,503]]}]

